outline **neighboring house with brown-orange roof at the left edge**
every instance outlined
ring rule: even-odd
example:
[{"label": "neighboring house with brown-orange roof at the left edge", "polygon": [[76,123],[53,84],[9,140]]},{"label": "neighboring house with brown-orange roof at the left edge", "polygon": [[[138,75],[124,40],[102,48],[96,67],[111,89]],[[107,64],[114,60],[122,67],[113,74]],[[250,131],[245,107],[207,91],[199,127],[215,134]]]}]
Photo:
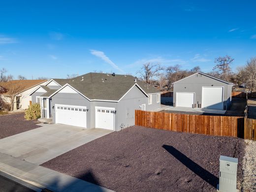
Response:
[{"label": "neighboring house with brown-orange roof at the left edge", "polygon": [[2,94],[2,99],[11,103],[10,96],[13,96],[13,109],[27,109],[32,102],[30,93],[39,85],[44,85],[47,80],[12,80],[8,82],[0,82],[0,86],[7,89],[7,92]]}]

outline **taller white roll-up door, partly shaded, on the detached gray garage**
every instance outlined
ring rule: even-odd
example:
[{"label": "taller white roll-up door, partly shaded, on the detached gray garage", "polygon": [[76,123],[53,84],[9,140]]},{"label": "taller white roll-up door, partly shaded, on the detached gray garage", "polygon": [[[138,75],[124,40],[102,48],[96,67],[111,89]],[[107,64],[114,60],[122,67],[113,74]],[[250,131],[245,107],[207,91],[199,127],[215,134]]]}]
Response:
[{"label": "taller white roll-up door, partly shaded, on the detached gray garage", "polygon": [[223,87],[203,87],[202,108],[223,109]]}]

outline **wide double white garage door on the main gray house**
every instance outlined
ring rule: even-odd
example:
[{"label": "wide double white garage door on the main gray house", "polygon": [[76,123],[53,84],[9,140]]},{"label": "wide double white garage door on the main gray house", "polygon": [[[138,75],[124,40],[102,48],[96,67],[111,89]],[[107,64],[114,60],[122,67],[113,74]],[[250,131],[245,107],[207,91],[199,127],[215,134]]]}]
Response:
[{"label": "wide double white garage door on the main gray house", "polygon": [[56,123],[86,128],[86,106],[55,105]]}]

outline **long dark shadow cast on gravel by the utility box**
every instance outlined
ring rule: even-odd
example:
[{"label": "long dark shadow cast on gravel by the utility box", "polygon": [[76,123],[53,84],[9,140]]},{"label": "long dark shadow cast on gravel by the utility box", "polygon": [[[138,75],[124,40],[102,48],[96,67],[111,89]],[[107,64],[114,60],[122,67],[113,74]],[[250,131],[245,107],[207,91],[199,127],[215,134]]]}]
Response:
[{"label": "long dark shadow cast on gravel by the utility box", "polygon": [[169,152],[173,157],[175,157],[177,160],[179,160],[182,164],[184,164],[186,167],[188,167],[190,170],[192,170],[196,175],[198,175],[200,178],[202,178],[204,181],[209,183],[214,188],[217,187],[217,184],[219,183],[219,178],[210,173],[209,171],[205,170],[203,167],[189,159],[187,156],[185,156],[183,153],[175,149],[173,146],[170,145],[162,145],[162,147]]}]

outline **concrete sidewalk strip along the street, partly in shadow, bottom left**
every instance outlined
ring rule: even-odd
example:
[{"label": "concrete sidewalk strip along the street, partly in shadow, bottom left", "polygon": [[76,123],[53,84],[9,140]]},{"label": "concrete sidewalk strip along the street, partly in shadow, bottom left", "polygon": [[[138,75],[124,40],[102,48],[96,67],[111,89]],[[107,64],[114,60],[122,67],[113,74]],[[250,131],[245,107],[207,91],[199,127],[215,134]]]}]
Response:
[{"label": "concrete sidewalk strip along the street, partly in shadow, bottom left", "polygon": [[[42,189],[49,189],[54,192],[113,192],[3,153],[0,153],[0,171],[5,173],[5,176],[10,175],[28,183],[30,188],[36,192],[40,192]],[[25,183],[21,184],[26,185]]]}]

